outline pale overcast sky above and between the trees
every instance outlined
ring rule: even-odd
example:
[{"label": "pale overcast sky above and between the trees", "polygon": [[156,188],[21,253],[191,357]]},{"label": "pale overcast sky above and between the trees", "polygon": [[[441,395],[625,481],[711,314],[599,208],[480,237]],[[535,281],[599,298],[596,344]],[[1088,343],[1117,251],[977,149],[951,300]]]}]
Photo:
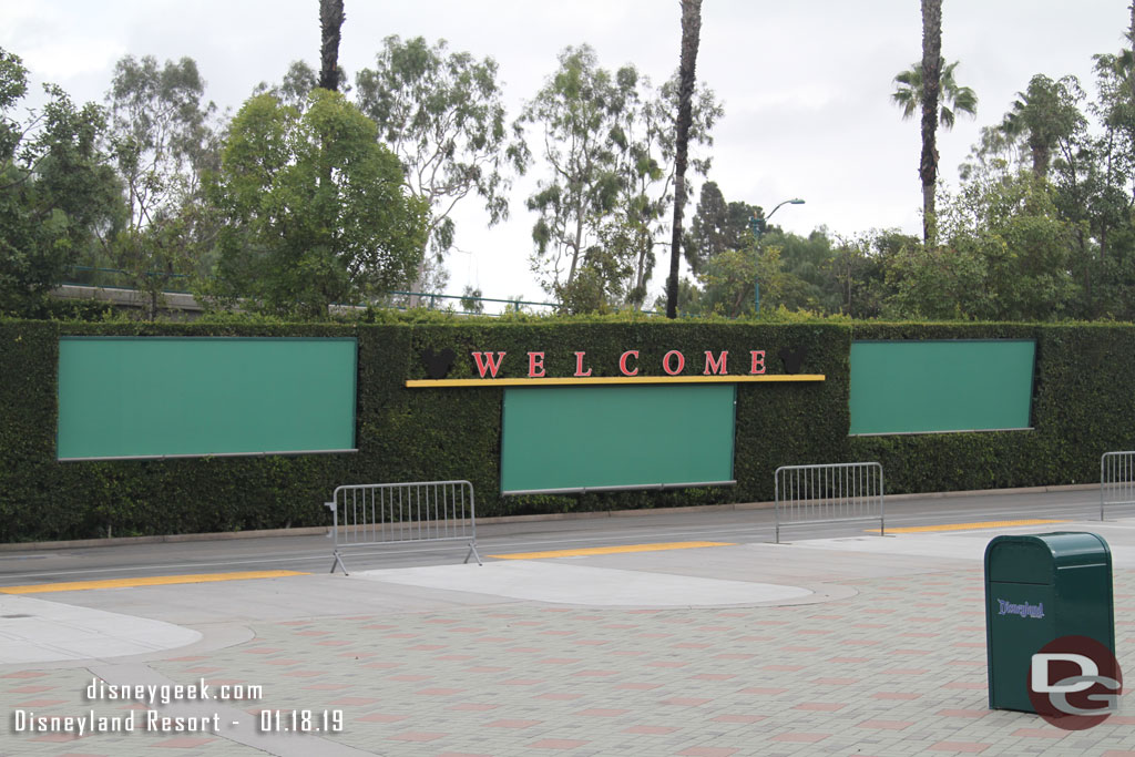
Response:
[{"label": "pale overcast sky above and between the trees", "polygon": [[[982,126],[1001,119],[1034,74],[1081,77],[1094,91],[1092,56],[1124,44],[1125,0],[944,0],[943,54],[978,96],[976,120],[941,133],[942,177],[957,184]],[[259,82],[278,82],[291,61],[318,69],[318,0],[0,0],[0,47],[19,54],[34,81],[77,101],[103,101],[115,61],[188,56],[207,95],[233,112]],[[354,75],[373,64],[382,37],[445,39],[452,50],[499,64],[515,116],[566,45],[592,45],[605,68],[634,64],[654,82],[678,66],[678,0],[346,0],[339,48]],[[922,56],[918,0],[705,0],[698,78],[723,101],[713,169],[726,200],[771,209],[774,221],[808,234],[826,226],[852,236],[872,228],[920,234],[917,119],[891,104],[894,75]],[[539,167],[518,182],[512,217],[485,228],[476,200],[457,219],[451,293],[545,300],[528,272],[524,209]],[[700,179],[696,180],[696,186]],[[687,213],[692,212],[692,209]],[[651,296],[669,266],[659,256]]]}]

